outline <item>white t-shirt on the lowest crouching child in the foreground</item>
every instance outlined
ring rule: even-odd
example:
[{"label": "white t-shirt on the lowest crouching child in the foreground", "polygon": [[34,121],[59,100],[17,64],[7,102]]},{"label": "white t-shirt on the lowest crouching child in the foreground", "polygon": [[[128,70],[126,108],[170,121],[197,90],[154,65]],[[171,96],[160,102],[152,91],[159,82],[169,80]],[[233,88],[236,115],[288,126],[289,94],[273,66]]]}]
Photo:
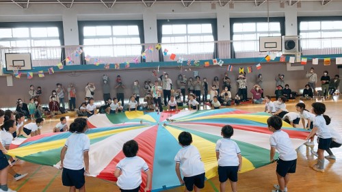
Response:
[{"label": "white t-shirt on the lowest crouching child in the foreground", "polygon": [[119,161],[116,168],[122,174],[118,177],[118,187],[124,190],[136,189],[142,184],[142,171],[148,171],[148,165],[140,156],[126,157]]}]

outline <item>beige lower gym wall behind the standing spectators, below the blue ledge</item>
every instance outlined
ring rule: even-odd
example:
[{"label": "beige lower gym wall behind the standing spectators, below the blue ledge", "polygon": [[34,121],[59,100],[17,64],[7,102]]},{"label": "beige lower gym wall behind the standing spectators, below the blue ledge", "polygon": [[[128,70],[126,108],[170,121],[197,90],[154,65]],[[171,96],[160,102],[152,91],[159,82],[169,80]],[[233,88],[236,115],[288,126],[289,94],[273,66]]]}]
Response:
[{"label": "beige lower gym wall behind the standing spectators, below the blue ledge", "polygon": [[[274,96],[274,88],[276,81],[274,81],[276,75],[278,73],[285,74],[285,83],[290,85],[291,90],[298,92],[298,90],[304,88],[304,85],[307,83],[305,78],[306,70],[310,70],[313,66],[315,68],[315,72],[320,78],[323,75],[324,70],[328,70],[330,72],[330,77],[333,77],[335,74],[339,74],[339,69],[332,61],[330,66],[324,66],[322,61],[319,62],[318,66],[313,66],[311,62],[308,62],[306,66],[304,66],[304,70],[300,71],[287,71],[285,64],[262,64],[261,70],[254,70],[252,73],[247,73],[247,81],[248,81],[248,97],[251,96],[250,88],[255,84],[257,75],[259,73],[263,74],[263,88],[265,90],[265,95],[269,94]],[[245,70],[248,66],[252,66],[254,64],[236,64],[234,65],[234,72],[228,72],[228,77],[231,78],[232,82],[237,78],[237,69],[238,67],[244,67]],[[108,74],[111,80],[111,97],[116,96],[116,90],[114,90],[114,86],[116,85],[116,76],[120,74],[122,77],[122,81],[124,85],[127,86],[127,90],[125,91],[125,98],[128,98],[132,94],[132,86],[133,81],[135,79],[140,81],[141,93],[143,94],[143,83],[147,79],[151,79],[154,81],[155,77],[152,75],[153,69],[140,69],[140,70],[101,70],[101,71],[83,71],[83,72],[75,72],[75,76],[71,76],[71,72],[60,72],[55,74],[46,74],[44,78],[34,77],[34,79],[26,79],[25,77],[21,79],[13,78],[13,87],[6,87],[6,78],[0,77],[0,85],[2,85],[2,89],[0,91],[1,100],[0,107],[11,107],[16,105],[16,100],[18,98],[22,98],[26,102],[28,102],[29,98],[29,85],[33,84],[36,87],[42,87],[42,102],[49,102],[49,96],[51,95],[51,91],[55,89],[56,83],[62,83],[64,87],[68,85],[68,83],[74,83],[77,91],[77,106],[81,104],[83,98],[85,97],[86,91],[86,83],[93,82],[96,86],[95,96],[96,100],[103,100],[103,93],[101,87],[101,78],[103,74]],[[213,81],[213,77],[218,76],[220,81],[224,77],[224,72],[226,72],[225,68],[220,68],[219,66],[211,66],[209,68],[193,68],[191,72],[183,72],[188,77],[194,77],[194,70],[198,71],[198,75],[201,77],[207,77],[208,82],[211,83]],[[159,75],[161,72],[168,72],[172,82],[176,83],[176,78],[180,74],[178,68],[161,68]],[[317,87],[319,87],[319,83],[317,83]],[[220,89],[221,89],[220,85]],[[237,83],[232,83],[232,94],[237,93]],[[67,95],[66,95],[67,96]]]}]

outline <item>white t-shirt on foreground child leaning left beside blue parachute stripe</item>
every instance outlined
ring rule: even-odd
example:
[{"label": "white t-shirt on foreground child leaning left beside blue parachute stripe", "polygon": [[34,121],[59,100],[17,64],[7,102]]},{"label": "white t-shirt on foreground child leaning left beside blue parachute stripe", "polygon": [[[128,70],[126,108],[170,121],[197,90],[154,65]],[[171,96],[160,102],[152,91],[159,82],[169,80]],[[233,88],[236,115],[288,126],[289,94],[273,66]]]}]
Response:
[{"label": "white t-shirt on foreground child leaning left beside blue parachute stripe", "polygon": [[201,161],[200,152],[195,146],[184,146],[174,157],[176,163],[181,163],[181,173],[185,177],[197,176],[205,172],[205,164]]}]

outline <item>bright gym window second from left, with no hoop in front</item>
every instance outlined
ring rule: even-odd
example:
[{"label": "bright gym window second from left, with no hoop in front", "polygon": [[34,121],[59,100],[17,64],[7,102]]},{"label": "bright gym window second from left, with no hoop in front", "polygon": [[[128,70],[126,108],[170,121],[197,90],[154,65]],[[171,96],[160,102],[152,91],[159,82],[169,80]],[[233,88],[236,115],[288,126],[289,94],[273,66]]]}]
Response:
[{"label": "bright gym window second from left, with no hoop in front", "polygon": [[84,52],[93,57],[129,57],[142,51],[137,25],[86,26],[83,37]]}]

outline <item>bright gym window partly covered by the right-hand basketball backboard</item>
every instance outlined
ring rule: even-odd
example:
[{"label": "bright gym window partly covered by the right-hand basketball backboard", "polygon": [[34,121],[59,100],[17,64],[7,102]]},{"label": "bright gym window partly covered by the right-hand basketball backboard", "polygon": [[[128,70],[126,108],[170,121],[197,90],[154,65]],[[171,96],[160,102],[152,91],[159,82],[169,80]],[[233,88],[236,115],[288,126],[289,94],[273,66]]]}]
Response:
[{"label": "bright gym window partly covered by the right-hand basketball backboard", "polygon": [[247,22],[233,24],[235,52],[259,51],[259,37],[281,36],[280,22]]}]

